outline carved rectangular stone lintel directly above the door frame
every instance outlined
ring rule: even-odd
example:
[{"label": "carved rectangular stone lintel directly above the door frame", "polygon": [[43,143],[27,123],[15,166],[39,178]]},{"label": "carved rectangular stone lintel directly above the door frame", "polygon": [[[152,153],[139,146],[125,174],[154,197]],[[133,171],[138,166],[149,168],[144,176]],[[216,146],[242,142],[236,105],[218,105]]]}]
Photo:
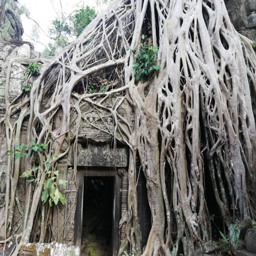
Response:
[{"label": "carved rectangular stone lintel directly above the door frame", "polygon": [[[126,167],[128,165],[127,148],[120,147],[110,148],[109,144],[95,146],[88,144],[87,148],[83,148],[78,144],[77,149],[77,165],[78,166],[106,166],[106,167]],[[68,164],[73,165],[73,157],[69,155]]]}]

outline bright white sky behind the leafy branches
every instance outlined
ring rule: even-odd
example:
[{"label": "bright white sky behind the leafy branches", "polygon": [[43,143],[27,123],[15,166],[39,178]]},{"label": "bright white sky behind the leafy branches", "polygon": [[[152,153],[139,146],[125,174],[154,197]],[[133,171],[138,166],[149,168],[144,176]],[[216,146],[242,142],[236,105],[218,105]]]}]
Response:
[{"label": "bright white sky behind the leafy branches", "polygon": [[[107,6],[107,4],[102,0],[18,0],[18,2],[20,5],[24,5],[28,9],[30,18],[35,20],[46,34],[48,34],[51,21],[58,17],[56,12],[58,12],[59,15],[61,13],[60,2],[66,16],[83,5],[93,7],[97,13],[100,13]],[[56,11],[54,11],[54,9]],[[29,20],[25,14],[21,15],[21,22],[24,29],[22,39],[24,41],[33,42],[35,50],[42,52],[45,48],[44,45],[48,45],[49,43],[49,37],[47,37],[41,29],[37,29],[39,36],[37,41],[43,44],[36,43],[30,38],[34,37],[33,27],[37,27],[36,23]]]}]

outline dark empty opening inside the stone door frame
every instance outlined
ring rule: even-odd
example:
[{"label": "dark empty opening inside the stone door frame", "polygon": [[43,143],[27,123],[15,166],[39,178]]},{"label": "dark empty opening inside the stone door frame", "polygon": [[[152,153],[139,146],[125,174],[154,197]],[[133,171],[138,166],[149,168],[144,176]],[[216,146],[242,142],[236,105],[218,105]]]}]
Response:
[{"label": "dark empty opening inside the stone door frame", "polygon": [[114,177],[84,177],[81,255],[113,255]]}]

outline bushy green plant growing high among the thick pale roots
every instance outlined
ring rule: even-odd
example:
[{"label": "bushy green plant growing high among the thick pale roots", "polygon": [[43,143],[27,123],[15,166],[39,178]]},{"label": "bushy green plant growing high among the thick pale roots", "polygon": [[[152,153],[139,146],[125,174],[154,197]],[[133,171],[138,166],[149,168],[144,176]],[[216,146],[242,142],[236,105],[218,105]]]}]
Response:
[{"label": "bushy green plant growing high among the thick pale roots", "polygon": [[[158,48],[153,44],[149,44],[147,36],[142,35],[143,43],[140,44],[140,50],[135,55],[133,62],[133,73],[136,80],[140,80],[142,77],[151,77],[155,71],[161,67],[156,66]],[[133,52],[133,50],[131,50]]]}]

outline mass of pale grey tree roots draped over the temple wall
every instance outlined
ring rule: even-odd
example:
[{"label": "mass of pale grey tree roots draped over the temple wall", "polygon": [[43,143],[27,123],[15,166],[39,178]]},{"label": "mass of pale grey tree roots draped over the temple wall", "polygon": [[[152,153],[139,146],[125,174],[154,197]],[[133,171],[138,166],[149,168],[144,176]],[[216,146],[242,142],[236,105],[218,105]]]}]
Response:
[{"label": "mass of pale grey tree roots draped over the temple wall", "polygon": [[[142,34],[159,48],[161,69],[147,81],[136,81],[133,51],[139,51]],[[99,89],[102,80],[103,93]],[[115,1],[52,60],[33,84],[29,100],[21,97],[15,108],[7,105],[1,120],[8,148],[14,138],[20,138],[19,129],[10,122],[16,108],[29,116],[27,144],[36,140],[47,145],[39,157],[40,182],[30,185],[34,193],[26,196],[30,211],[23,216],[20,243],[29,241],[42,209],[44,162],[56,168],[74,142],[76,173],[85,105],[107,111],[114,120],[111,136],[130,150],[120,255],[194,255],[212,237],[209,204],[216,204],[226,226],[234,219],[255,218],[255,81],[255,52],[230,23],[224,1]],[[89,90],[92,84],[94,92]],[[106,103],[109,97],[114,98],[110,105]],[[134,123],[118,112],[124,101],[133,108]],[[54,121],[60,112],[57,127]],[[137,212],[137,152],[152,216],[144,252]],[[25,165],[31,164],[31,158]],[[11,156],[8,171],[12,186],[19,168],[13,169]],[[205,177],[211,180],[207,188]],[[213,194],[213,202],[207,202],[206,190]],[[13,200],[15,193],[7,195]],[[6,210],[5,227],[13,233],[11,211]]]}]

